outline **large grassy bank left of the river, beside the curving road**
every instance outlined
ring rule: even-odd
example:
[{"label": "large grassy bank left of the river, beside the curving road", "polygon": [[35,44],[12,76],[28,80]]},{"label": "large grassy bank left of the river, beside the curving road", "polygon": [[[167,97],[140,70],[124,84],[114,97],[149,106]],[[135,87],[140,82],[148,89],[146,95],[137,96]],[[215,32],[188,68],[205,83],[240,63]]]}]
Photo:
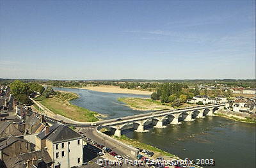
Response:
[{"label": "large grassy bank left of the river, beside the curving road", "polygon": [[56,95],[51,95],[49,98],[38,96],[35,100],[42,103],[42,105],[55,114],[60,114],[61,116],[65,116],[75,121],[94,122],[99,120],[95,117],[97,112],[78,107],[77,105],[72,105],[69,102],[78,97],[75,93],[55,93]]}]

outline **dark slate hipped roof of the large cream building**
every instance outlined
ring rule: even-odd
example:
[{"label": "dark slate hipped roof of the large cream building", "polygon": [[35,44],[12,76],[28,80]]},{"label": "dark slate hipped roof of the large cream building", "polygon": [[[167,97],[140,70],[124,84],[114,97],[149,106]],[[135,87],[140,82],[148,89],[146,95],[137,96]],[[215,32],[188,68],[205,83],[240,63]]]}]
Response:
[{"label": "dark slate hipped roof of the large cream building", "polygon": [[83,136],[68,128],[67,125],[56,123],[49,129],[49,134],[45,135],[45,130],[40,134],[36,135],[40,139],[48,139],[51,142],[63,142],[70,141],[72,139],[79,139]]}]

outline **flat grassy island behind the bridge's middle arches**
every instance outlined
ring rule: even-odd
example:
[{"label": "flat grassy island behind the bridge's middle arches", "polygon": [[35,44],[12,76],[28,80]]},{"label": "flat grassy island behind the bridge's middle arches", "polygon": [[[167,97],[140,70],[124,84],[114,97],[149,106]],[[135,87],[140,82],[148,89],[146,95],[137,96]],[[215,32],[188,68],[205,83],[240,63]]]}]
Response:
[{"label": "flat grassy island behind the bridge's middle arches", "polygon": [[132,109],[141,111],[172,109],[170,105],[164,105],[149,98],[118,98],[118,101],[127,104]]}]

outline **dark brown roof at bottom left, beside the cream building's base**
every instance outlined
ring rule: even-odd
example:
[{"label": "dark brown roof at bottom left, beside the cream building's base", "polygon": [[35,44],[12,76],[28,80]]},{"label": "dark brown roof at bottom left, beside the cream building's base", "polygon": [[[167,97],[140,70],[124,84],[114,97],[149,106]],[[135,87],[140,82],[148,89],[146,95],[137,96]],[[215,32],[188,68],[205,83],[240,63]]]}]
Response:
[{"label": "dark brown roof at bottom left, beside the cream building's base", "polygon": [[34,165],[36,167],[45,168],[44,162],[46,164],[49,164],[52,162],[51,157],[49,156],[49,153],[45,150],[42,151],[33,151],[29,153],[23,153],[15,158],[10,158],[9,160],[6,160],[5,164],[8,168],[26,168],[28,160],[34,160]]}]

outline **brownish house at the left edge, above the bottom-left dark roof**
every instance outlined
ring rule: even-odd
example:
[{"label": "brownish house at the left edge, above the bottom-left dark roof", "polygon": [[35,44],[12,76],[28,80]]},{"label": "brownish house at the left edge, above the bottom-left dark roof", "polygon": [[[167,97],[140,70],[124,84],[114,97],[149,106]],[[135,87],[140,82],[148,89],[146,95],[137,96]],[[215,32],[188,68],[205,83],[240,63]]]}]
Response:
[{"label": "brownish house at the left edge, above the bottom-left dark roof", "polygon": [[20,155],[20,153],[28,153],[34,150],[35,145],[25,139],[17,137],[8,137],[8,139],[0,142],[0,160],[6,162],[10,158]]}]

